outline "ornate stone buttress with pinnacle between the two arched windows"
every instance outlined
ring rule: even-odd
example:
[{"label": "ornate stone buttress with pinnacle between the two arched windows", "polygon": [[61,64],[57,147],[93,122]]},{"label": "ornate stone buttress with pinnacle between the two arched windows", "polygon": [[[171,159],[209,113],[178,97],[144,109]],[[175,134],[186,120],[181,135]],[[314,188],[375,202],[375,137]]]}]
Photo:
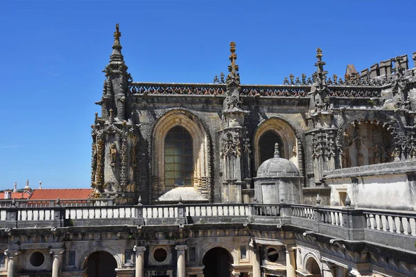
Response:
[{"label": "ornate stone buttress with pinnacle between the two arched windows", "polygon": [[241,203],[241,189],[250,188],[251,149],[244,116],[249,112],[241,108],[239,66],[236,64],[236,44],[230,44],[227,91],[223,102],[220,134],[220,168],[223,202]]}]

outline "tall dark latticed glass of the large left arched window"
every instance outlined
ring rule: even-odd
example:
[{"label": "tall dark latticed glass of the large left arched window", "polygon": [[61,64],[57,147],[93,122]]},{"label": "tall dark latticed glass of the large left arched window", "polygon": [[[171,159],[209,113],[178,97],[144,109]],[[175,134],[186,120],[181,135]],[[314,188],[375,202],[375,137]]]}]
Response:
[{"label": "tall dark latticed glass of the large left arched window", "polygon": [[187,129],[179,125],[165,136],[164,175],[166,188],[193,185],[193,141]]}]

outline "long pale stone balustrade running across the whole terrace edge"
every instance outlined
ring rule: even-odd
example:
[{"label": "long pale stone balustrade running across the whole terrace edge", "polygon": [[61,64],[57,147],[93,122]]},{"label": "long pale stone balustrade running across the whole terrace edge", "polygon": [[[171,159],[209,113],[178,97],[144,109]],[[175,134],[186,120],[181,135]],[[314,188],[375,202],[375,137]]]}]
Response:
[{"label": "long pale stone balustrade running across the whole terrace edge", "polygon": [[416,212],[301,204],[177,204],[0,208],[0,228],[265,223],[297,226],[337,243],[368,241],[415,251]]}]

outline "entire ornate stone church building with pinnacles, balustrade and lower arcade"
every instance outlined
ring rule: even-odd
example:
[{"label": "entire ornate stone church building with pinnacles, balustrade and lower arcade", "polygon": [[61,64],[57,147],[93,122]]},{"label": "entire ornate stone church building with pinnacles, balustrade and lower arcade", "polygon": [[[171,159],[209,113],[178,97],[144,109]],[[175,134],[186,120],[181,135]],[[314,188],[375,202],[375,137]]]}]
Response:
[{"label": "entire ornate stone church building with pinnacles, balustrade and lower arcade", "polygon": [[226,76],[150,83],[120,37],[92,125],[94,199],[1,206],[0,276],[416,276],[407,55],[338,78],[318,48],[309,78],[241,84],[232,42]]}]

